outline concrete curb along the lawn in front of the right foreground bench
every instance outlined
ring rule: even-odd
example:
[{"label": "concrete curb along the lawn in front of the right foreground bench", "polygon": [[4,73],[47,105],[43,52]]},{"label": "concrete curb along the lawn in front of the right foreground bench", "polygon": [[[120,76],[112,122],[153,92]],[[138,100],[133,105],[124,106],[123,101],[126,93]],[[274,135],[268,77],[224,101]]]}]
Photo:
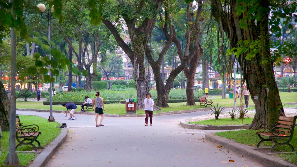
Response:
[{"label": "concrete curb along the lawn in front of the right foreground bench", "polygon": [[288,163],[279,157],[267,155],[262,152],[256,151],[254,147],[244,144],[236,143],[233,140],[216,136],[214,133],[205,134],[205,139],[213,143],[221,145],[223,148],[227,148],[240,155],[248,157],[263,166],[273,167],[296,167],[295,164]]}]

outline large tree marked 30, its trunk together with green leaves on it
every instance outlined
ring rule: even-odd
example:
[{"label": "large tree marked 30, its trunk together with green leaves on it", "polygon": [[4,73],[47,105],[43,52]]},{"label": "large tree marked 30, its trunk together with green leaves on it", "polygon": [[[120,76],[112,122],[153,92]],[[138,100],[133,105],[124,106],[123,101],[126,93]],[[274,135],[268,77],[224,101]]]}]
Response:
[{"label": "large tree marked 30, its trunk together with green leaves on it", "polygon": [[[256,129],[259,124],[274,124],[279,114],[284,114],[284,109],[274,78],[273,65],[276,60],[270,53],[268,23],[271,23],[272,31],[279,31],[276,29],[279,25],[276,15],[286,11],[287,16],[282,16],[289,19],[296,8],[291,8],[287,1],[282,0],[230,0],[225,4],[220,0],[211,0],[211,7],[219,28],[228,34],[230,47],[233,48],[229,55],[234,51],[238,57],[255,103],[256,114],[250,128]],[[274,10],[274,16],[269,20],[271,10]]]}]

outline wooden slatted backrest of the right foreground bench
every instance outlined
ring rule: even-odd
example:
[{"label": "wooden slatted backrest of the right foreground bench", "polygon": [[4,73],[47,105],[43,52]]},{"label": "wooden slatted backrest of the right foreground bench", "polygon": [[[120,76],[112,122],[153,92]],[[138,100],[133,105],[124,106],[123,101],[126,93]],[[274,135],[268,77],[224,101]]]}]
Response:
[{"label": "wooden slatted backrest of the right foreground bench", "polygon": [[291,136],[294,133],[297,116],[279,116],[274,133]]}]

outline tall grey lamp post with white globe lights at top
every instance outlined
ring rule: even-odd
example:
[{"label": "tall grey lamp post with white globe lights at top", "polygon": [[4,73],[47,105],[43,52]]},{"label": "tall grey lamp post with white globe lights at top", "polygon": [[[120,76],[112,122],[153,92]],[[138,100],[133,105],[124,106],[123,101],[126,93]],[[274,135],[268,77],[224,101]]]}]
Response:
[{"label": "tall grey lamp post with white globe lights at top", "polygon": [[[45,14],[46,7],[45,7],[44,4],[38,4],[37,7],[42,12],[41,17],[48,20],[48,44],[49,44],[49,47],[50,47],[50,20],[53,19],[53,17],[50,16],[50,9],[48,9],[48,12]],[[52,11],[53,11],[53,7],[52,7]],[[48,59],[51,60],[50,48],[49,48],[49,53],[48,53]],[[49,75],[50,75],[50,77],[52,77],[52,72],[50,71],[51,64],[49,64],[49,67],[48,68],[49,68]],[[50,92],[50,116],[48,118],[48,121],[49,122],[55,122],[55,119],[53,117],[53,91],[52,91],[52,83],[50,83],[49,92]]]}]

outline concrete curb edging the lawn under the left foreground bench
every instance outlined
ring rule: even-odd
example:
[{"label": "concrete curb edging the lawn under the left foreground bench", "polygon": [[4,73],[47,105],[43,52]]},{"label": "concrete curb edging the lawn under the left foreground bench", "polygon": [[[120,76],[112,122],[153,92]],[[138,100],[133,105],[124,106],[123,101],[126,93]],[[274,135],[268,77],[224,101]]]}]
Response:
[{"label": "concrete curb edging the lawn under the left foreground bench", "polygon": [[67,128],[62,128],[61,134],[51,142],[45,149],[35,158],[33,163],[29,167],[42,167],[50,160],[57,149],[67,139]]}]

